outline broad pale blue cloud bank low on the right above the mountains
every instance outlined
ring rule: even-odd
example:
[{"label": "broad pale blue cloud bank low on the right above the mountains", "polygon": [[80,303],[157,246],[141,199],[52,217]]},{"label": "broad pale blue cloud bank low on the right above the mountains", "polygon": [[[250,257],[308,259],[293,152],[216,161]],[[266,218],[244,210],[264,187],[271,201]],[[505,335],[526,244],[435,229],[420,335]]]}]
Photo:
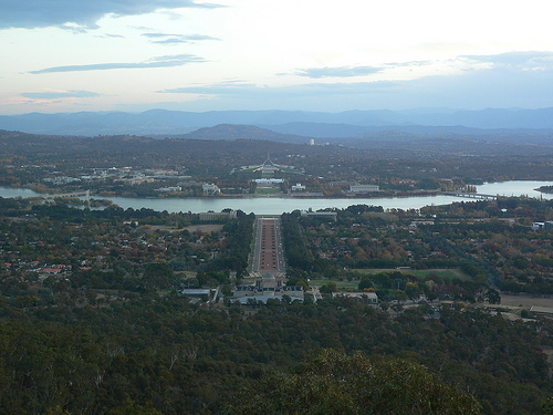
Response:
[{"label": "broad pale blue cloud bank low on the right above the mountains", "polygon": [[[158,91],[196,94],[198,100],[218,100],[220,107],[336,108],[414,107],[547,107],[553,105],[553,68],[550,52],[470,56],[473,69],[455,74],[403,81],[309,82],[299,85],[263,86],[247,82],[190,85]],[[468,62],[469,56],[462,56]],[[541,70],[533,70],[540,64]],[[550,69],[547,69],[550,68]],[[192,102],[197,102],[192,101]]]}]

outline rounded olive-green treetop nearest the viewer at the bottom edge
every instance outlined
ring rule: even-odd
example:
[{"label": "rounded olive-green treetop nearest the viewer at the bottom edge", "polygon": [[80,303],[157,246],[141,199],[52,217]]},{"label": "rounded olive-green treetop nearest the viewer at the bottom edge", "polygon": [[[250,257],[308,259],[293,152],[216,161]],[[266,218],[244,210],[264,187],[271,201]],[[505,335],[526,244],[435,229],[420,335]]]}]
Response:
[{"label": "rounded olive-green treetop nearest the viewer at the bottom edge", "polygon": [[231,414],[479,414],[480,404],[425,366],[324,350],[271,373]]}]

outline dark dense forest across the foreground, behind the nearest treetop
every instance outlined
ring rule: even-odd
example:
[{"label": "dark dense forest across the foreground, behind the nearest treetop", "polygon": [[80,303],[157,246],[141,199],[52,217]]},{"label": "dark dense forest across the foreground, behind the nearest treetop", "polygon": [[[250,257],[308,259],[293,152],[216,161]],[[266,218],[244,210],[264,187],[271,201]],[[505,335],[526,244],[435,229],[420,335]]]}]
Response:
[{"label": "dark dense forest across the foreground, behind the nearest treetop", "polygon": [[45,310],[4,298],[2,321],[10,414],[220,413],[323,349],[421,364],[488,414],[535,414],[550,396],[550,326],[478,311],[390,318],[355,300],[218,310],[176,295]]}]

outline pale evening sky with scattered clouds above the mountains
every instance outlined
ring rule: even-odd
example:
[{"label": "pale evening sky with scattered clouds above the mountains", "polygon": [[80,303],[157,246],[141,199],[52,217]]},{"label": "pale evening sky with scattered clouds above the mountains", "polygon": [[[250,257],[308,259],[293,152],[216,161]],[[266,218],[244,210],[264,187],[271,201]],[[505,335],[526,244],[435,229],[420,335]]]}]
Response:
[{"label": "pale evening sky with scattered clouds above the mountains", "polygon": [[0,115],[553,106],[550,0],[0,0]]}]

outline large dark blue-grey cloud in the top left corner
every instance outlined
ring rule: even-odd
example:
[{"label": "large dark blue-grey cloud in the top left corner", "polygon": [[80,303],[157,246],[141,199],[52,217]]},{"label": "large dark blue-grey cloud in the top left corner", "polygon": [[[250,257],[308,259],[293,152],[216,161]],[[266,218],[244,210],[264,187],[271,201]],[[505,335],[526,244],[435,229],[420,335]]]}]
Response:
[{"label": "large dark blue-grey cloud in the top left corner", "polygon": [[0,29],[46,28],[76,23],[95,28],[105,14],[133,15],[159,9],[218,8],[192,0],[8,0],[2,2]]}]

